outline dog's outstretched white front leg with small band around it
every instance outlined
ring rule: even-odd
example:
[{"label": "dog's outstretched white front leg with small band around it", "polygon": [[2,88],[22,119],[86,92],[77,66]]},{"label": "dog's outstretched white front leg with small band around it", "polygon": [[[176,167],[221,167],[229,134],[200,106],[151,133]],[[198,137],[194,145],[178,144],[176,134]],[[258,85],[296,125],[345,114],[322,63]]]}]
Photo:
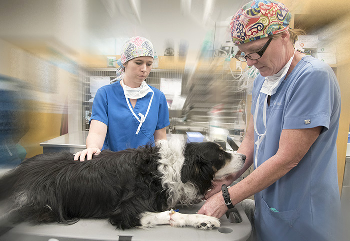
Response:
[{"label": "dog's outstretched white front leg with small band around it", "polygon": [[145,212],[140,222],[142,228],[150,228],[159,224],[170,224],[176,227],[193,226],[199,229],[220,227],[220,221],[217,218],[202,214],[181,214],[174,211]]}]

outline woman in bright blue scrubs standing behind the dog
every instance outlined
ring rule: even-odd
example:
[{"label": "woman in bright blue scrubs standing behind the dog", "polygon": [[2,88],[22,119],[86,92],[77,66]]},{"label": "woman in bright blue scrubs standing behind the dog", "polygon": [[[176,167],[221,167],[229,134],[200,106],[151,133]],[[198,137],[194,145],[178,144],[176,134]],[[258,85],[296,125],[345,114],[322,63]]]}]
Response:
[{"label": "woman in bright blue scrubs standing behind the dog", "polygon": [[74,160],[92,158],[103,149],[120,151],[166,139],[170,124],[165,95],[149,86],[154,58],[152,43],[132,37],[122,48],[118,80],[98,89],[93,101],[86,148]]}]

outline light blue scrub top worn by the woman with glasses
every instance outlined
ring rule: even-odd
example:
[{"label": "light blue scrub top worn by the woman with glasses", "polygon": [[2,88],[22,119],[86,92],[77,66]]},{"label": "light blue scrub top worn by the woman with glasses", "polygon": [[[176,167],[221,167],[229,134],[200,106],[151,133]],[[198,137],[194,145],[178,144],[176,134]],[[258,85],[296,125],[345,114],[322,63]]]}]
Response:
[{"label": "light blue scrub top worn by the woman with glasses", "polygon": [[[258,75],[251,112],[264,82]],[[257,129],[264,133],[261,93]],[[267,105],[267,132],[260,145],[257,166],[276,154],[283,129],[323,130],[300,163],[268,188],[255,194],[255,226],[263,241],[335,241],[340,208],[336,138],[340,116],[340,89],[328,64],[305,56],[271,96]],[[257,134],[255,131],[255,142]],[[254,156],[256,153],[256,144]]]}]

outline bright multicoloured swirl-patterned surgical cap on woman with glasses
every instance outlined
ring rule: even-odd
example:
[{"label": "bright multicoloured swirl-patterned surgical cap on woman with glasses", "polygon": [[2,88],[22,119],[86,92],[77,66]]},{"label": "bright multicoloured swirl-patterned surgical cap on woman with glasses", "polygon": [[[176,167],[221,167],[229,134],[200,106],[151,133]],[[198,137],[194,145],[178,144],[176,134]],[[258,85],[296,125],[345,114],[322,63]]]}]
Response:
[{"label": "bright multicoloured swirl-patterned surgical cap on woman with glasses", "polygon": [[232,17],[232,41],[239,45],[284,32],[289,29],[290,20],[288,8],[278,1],[249,2]]}]

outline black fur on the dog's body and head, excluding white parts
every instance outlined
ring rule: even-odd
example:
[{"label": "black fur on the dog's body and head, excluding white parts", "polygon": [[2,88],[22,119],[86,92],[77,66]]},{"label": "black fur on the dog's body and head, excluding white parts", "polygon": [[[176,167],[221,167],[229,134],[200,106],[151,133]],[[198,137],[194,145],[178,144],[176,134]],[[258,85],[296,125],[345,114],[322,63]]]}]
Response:
[{"label": "black fur on the dog's body and head, excluding white parts", "polygon": [[[139,226],[142,213],[173,208],[158,170],[159,149],[105,150],[85,162],[67,152],[37,155],[0,179],[0,199],[12,203],[11,216],[19,222],[108,218],[121,229]],[[188,143],[183,155],[181,181],[193,183],[200,195],[232,157],[212,142]]]}]

